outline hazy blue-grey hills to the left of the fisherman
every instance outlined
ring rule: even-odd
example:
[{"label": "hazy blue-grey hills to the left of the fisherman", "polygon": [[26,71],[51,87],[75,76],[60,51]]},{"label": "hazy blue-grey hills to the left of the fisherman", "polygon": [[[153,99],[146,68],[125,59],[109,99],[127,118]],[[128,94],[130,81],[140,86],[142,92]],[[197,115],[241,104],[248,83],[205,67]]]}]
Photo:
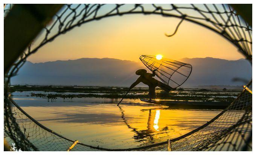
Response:
[{"label": "hazy blue-grey hills to the left of the fisherman", "polygon": [[26,62],[11,84],[128,86],[143,64],[109,58]]}]

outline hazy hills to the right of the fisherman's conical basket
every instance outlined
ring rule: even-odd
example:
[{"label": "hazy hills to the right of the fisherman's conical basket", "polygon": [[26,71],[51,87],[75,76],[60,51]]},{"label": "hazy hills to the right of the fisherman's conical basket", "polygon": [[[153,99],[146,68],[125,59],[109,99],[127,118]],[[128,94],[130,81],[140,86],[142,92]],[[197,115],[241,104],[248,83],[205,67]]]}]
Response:
[{"label": "hazy hills to the right of the fisherman's conical basket", "polygon": [[233,78],[251,80],[252,68],[245,59],[224,60],[212,57],[183,58],[181,62],[190,63],[192,73],[182,87],[202,85],[241,85],[243,82],[235,82]]}]

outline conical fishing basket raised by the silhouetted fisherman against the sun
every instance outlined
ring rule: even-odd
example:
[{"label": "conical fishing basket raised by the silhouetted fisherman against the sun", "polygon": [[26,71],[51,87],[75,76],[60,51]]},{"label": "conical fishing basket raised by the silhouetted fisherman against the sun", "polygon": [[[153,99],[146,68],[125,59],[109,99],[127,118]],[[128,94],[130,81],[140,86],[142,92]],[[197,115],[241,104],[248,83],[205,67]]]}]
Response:
[{"label": "conical fishing basket raised by the silhouetted fisherman against the sun", "polygon": [[155,75],[165,84],[177,88],[183,84],[192,71],[192,66],[187,63],[158,58],[156,56],[140,56],[142,63],[150,70],[155,70]]}]

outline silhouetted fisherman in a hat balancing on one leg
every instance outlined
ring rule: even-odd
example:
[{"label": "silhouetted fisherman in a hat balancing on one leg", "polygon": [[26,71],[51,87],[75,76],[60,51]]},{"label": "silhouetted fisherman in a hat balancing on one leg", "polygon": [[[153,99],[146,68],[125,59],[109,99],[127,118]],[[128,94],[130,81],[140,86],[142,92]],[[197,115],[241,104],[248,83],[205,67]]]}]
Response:
[{"label": "silhouetted fisherman in a hat balancing on one leg", "polygon": [[164,84],[158,80],[156,80],[155,78],[153,78],[155,76],[155,71],[152,71],[151,73],[147,73],[146,69],[139,69],[136,71],[136,75],[140,75],[140,77],[130,86],[129,90],[133,89],[133,87],[135,87],[137,84],[139,83],[144,83],[146,85],[148,85],[149,88],[149,99],[155,99],[156,95],[155,95],[155,87],[160,87],[163,90],[165,90],[166,92],[170,92],[170,90],[174,90],[174,88],[170,87],[167,84]]}]

